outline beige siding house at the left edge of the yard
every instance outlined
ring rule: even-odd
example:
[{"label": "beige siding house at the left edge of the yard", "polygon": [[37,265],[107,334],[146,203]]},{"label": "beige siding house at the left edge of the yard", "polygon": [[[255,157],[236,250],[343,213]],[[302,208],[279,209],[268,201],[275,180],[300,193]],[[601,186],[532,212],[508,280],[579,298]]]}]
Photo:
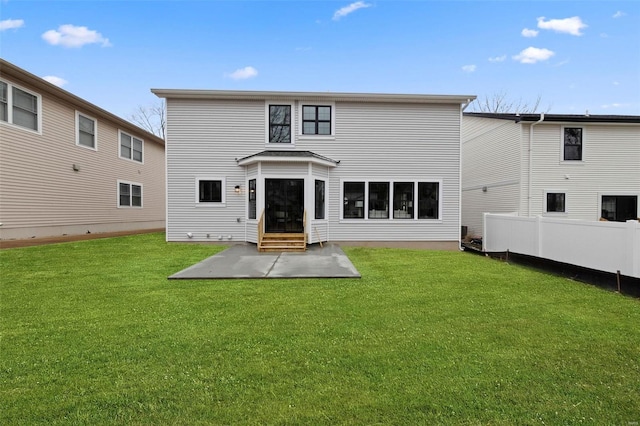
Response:
[{"label": "beige siding house at the left edge of the yard", "polygon": [[164,226],[164,141],[0,60],[0,240]]}]

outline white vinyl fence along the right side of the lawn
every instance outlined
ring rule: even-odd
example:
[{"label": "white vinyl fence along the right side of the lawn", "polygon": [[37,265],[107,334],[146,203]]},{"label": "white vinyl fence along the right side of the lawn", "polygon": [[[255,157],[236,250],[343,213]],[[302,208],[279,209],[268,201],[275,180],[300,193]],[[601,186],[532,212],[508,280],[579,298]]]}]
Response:
[{"label": "white vinyl fence along the right side of the lawn", "polygon": [[484,214],[486,252],[524,254],[640,278],[640,222]]}]

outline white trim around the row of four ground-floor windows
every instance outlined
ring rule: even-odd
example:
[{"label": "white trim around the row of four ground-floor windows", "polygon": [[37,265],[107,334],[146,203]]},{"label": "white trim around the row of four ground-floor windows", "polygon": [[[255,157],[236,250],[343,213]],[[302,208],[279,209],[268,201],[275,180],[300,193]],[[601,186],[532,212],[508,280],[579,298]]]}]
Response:
[{"label": "white trim around the row of four ground-floor windows", "polygon": [[[344,184],[349,182],[362,182],[364,183],[364,217],[363,218],[345,218],[344,217]],[[370,182],[383,182],[389,183],[389,218],[369,218],[369,183]],[[398,183],[413,183],[413,218],[394,218],[393,217],[393,197],[394,197],[394,184]],[[373,221],[376,223],[413,223],[413,222],[425,222],[425,223],[442,223],[442,203],[443,203],[443,179],[422,178],[422,179],[385,179],[385,178],[348,178],[340,179],[340,222],[344,223],[367,223]],[[420,219],[418,218],[418,184],[419,183],[437,183],[438,184],[438,218],[437,219]]]}]

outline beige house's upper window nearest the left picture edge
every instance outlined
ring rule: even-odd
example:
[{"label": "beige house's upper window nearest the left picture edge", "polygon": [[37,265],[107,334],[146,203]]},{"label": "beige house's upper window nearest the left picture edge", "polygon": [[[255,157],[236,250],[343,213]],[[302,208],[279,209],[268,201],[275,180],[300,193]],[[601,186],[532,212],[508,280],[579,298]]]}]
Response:
[{"label": "beige house's upper window nearest the left picture edge", "polygon": [[1,121],[37,132],[40,108],[40,96],[0,81]]}]

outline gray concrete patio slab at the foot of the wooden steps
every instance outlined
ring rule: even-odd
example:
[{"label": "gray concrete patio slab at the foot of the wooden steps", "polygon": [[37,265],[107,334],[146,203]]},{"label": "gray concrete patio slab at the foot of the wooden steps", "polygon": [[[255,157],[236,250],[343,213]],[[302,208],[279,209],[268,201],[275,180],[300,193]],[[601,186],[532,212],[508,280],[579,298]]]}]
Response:
[{"label": "gray concrete patio slab at the foot of the wooden steps", "polygon": [[360,278],[337,245],[311,246],[304,253],[261,253],[254,245],[236,245],[169,279]]}]

